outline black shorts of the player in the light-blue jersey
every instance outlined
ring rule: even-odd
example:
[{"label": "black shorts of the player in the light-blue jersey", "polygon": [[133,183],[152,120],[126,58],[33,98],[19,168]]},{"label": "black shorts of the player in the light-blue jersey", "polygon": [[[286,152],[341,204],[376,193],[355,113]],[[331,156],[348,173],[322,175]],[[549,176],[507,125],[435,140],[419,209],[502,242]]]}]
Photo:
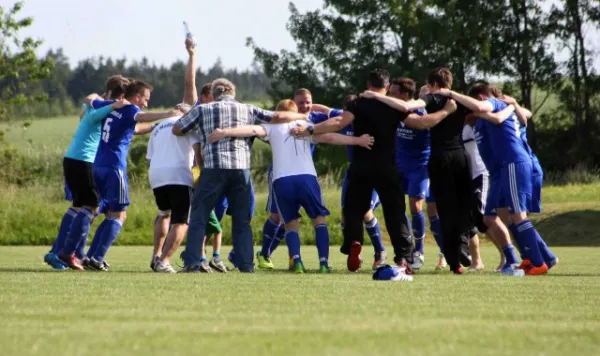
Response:
[{"label": "black shorts of the player in the light-blue jersey", "polygon": [[63,159],[63,172],[65,181],[73,196],[73,206],[76,208],[82,206],[97,207],[99,200],[96,182],[94,181],[93,164],[65,157]]}]

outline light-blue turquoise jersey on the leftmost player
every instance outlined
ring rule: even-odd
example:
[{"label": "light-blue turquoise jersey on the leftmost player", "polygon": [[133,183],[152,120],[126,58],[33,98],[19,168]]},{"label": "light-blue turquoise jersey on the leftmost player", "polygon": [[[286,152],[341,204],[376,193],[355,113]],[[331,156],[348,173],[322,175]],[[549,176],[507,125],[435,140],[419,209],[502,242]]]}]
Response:
[{"label": "light-blue turquoise jersey on the leftmost player", "polygon": [[73,135],[71,144],[65,153],[65,157],[79,161],[94,163],[98,144],[100,143],[100,126],[102,120],[112,111],[110,106],[98,110],[83,105],[86,109],[81,118],[77,130]]}]

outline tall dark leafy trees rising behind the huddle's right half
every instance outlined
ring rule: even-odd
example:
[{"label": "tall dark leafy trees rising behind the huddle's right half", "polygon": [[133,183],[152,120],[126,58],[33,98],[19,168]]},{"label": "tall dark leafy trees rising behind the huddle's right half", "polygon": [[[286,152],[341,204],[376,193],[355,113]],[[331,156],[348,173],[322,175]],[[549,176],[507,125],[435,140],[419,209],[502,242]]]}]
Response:
[{"label": "tall dark leafy trees rising behind the huddle's right half", "polygon": [[597,0],[325,0],[323,9],[289,10],[296,51],[247,41],[275,100],[307,87],[340,107],[373,68],[424,84],[430,69],[447,66],[455,89],[499,78],[533,111],[529,139],[546,169],[600,166]]}]

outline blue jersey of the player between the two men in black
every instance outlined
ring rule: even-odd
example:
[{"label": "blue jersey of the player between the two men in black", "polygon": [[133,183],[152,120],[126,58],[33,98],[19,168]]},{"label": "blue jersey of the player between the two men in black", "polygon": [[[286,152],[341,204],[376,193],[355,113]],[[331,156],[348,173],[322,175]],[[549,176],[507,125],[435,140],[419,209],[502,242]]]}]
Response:
[{"label": "blue jersey of the player between the two men in black", "polygon": [[[425,115],[424,109],[415,111]],[[431,135],[429,130],[412,129],[400,122],[396,130],[396,167],[400,172],[409,172],[418,166],[426,166],[431,155]]]}]

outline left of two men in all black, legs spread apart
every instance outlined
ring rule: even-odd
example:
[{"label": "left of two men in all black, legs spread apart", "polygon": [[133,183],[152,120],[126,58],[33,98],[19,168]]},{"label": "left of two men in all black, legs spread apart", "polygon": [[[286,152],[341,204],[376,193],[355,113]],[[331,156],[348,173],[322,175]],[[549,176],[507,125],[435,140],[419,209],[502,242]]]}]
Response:
[{"label": "left of two men in all black, legs spread apart", "polygon": [[[369,74],[370,91],[385,95],[389,88],[389,74],[374,70]],[[443,113],[442,113],[443,114]],[[440,115],[440,114],[438,114]],[[447,115],[447,113],[446,113]],[[400,174],[396,168],[396,129],[406,113],[394,110],[374,99],[359,98],[346,105],[339,118],[327,120],[311,129],[298,127],[291,134],[310,134],[339,131],[352,123],[354,136],[369,134],[375,143],[371,150],[354,148],[353,163],[348,171],[348,190],[344,214],[344,243],[341,251],[348,257],[348,269],[360,267],[363,243],[362,218],[370,208],[373,189],[379,194],[383,215],[394,247],[394,261],[400,267],[401,280],[411,280],[407,262],[412,259],[412,241],[403,218],[406,210]]]}]

